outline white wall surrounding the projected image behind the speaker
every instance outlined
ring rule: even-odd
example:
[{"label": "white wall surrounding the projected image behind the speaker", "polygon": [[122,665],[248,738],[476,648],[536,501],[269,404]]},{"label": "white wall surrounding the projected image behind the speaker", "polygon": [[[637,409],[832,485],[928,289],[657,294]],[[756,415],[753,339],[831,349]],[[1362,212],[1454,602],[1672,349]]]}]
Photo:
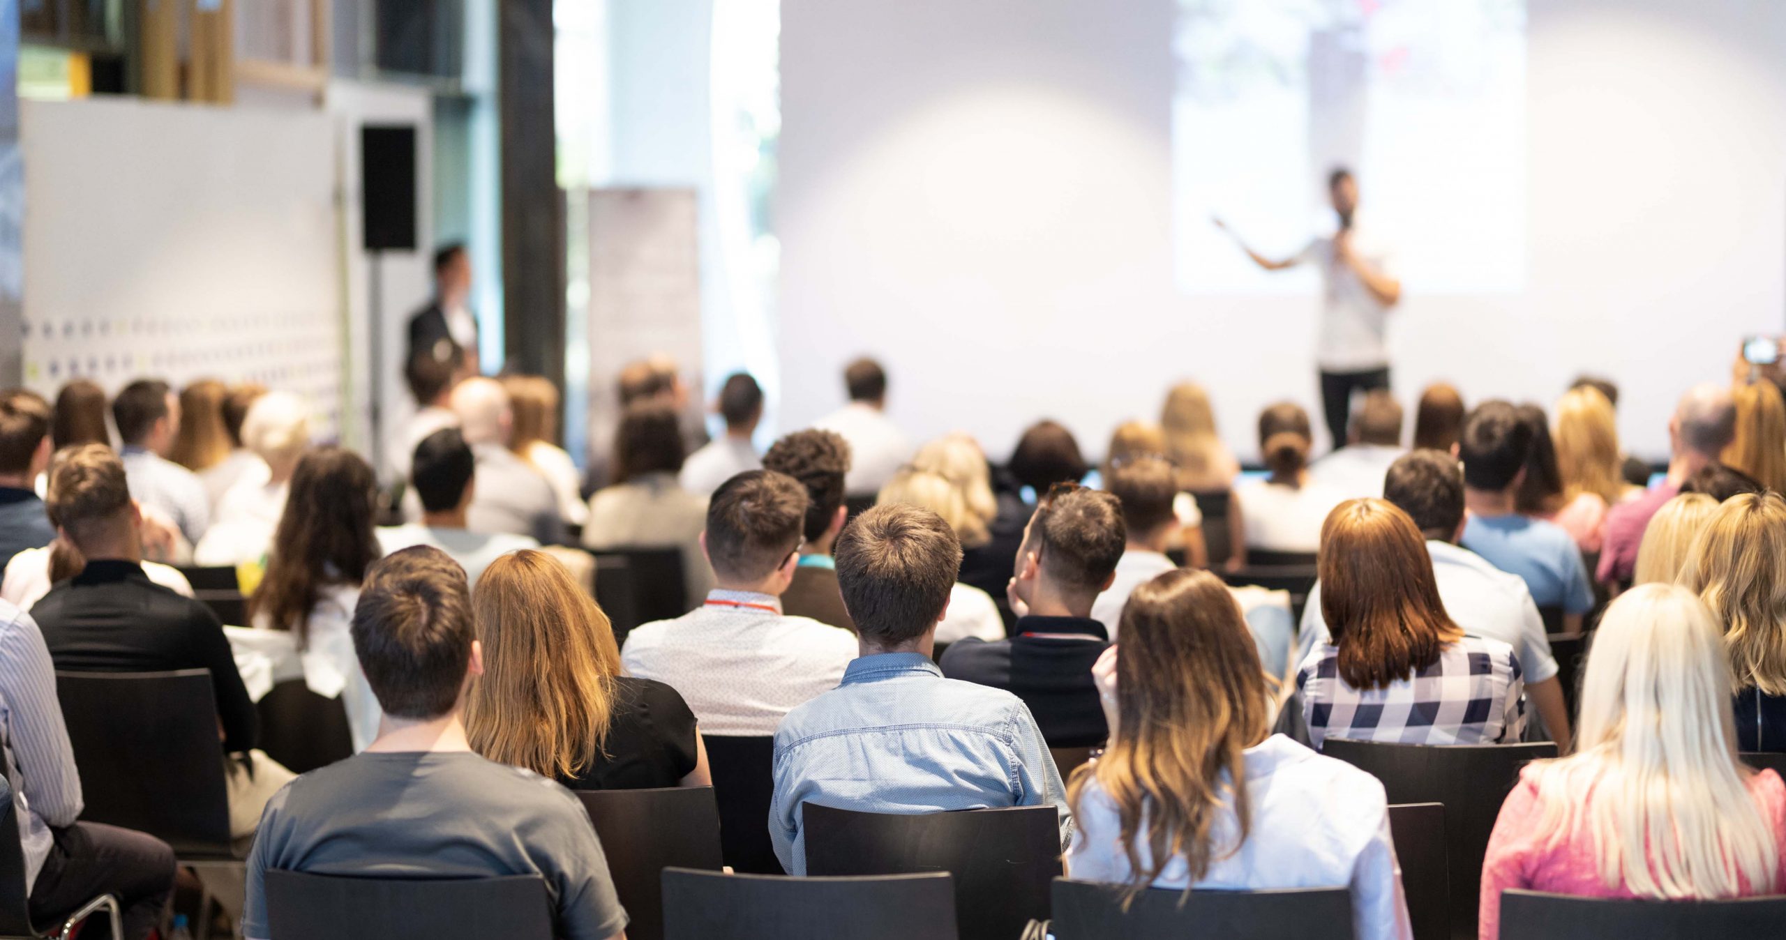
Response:
[{"label": "white wall surrounding the projected image behind the speaker", "polygon": [[[1313,294],[1172,284],[1173,9],[784,2],[784,426],[836,407],[861,351],[916,437],[966,428],[995,455],[1041,416],[1100,453],[1184,376],[1243,453],[1259,407],[1313,410]],[[1397,389],[1548,405],[1606,373],[1627,446],[1659,455],[1677,394],[1782,326],[1786,4],[1550,0],[1529,18],[1527,287],[1409,294]]]}]

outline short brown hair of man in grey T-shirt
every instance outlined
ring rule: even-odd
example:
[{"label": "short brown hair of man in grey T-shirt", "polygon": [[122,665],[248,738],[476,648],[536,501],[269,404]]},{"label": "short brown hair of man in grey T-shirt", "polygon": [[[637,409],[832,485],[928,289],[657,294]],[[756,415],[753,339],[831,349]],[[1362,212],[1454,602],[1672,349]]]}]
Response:
[{"label": "short brown hair of man in grey T-shirt", "polygon": [[452,712],[472,664],[472,592],[445,551],[416,546],[366,569],[354,606],[354,649],[388,715]]}]

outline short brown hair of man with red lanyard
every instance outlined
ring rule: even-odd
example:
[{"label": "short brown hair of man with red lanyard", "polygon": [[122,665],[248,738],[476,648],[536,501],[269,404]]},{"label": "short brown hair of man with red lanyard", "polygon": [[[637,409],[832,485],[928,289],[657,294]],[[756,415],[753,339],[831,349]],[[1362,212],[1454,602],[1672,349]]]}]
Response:
[{"label": "short brown hair of man with red lanyard", "polygon": [[745,471],[707,503],[707,560],[714,574],[755,581],[780,567],[805,523],[805,487],[786,473]]}]

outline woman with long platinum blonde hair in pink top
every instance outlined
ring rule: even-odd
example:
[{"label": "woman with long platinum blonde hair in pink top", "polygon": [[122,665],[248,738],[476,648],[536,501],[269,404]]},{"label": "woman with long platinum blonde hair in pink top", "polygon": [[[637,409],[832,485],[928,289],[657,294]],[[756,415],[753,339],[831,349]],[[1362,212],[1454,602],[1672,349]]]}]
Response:
[{"label": "woman with long platinum blonde hair in pink top", "polygon": [[1711,610],[1641,585],[1600,621],[1577,751],[1532,763],[1482,860],[1479,936],[1500,892],[1715,899],[1781,894],[1786,785],[1736,760],[1727,653]]}]

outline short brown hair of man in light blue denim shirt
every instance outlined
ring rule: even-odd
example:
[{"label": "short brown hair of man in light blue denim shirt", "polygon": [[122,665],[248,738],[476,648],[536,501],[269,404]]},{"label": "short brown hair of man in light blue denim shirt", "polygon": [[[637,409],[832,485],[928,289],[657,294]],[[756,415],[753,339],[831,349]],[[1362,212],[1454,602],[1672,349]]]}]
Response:
[{"label": "short brown hair of man in light blue denim shirt", "polygon": [[838,589],[855,631],[880,646],[922,637],[943,619],[961,573],[961,542],[941,515],[873,507],[838,537]]}]

